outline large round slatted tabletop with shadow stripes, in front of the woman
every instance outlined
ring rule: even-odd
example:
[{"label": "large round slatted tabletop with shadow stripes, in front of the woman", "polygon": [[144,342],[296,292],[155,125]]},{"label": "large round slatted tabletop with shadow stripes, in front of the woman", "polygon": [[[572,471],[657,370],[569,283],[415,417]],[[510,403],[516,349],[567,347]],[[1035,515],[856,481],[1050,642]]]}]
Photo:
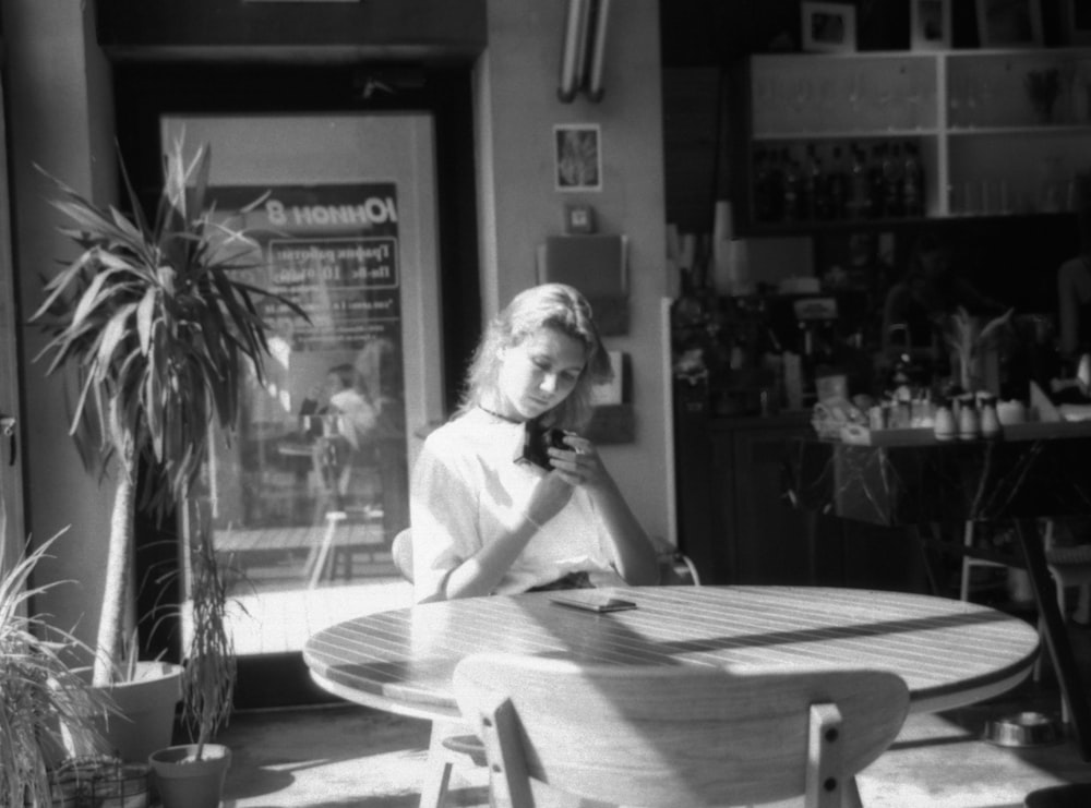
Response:
[{"label": "large round slatted tabletop with shadow stripes, in front of the woman", "polygon": [[1023,620],[928,595],[791,587],[640,587],[619,594],[637,608],[596,615],[533,593],[368,615],[319,631],[303,660],[337,696],[432,720],[458,716],[452,673],[479,651],[619,665],[872,667],[906,679],[911,710],[934,711],[1018,684],[1039,644]]}]

